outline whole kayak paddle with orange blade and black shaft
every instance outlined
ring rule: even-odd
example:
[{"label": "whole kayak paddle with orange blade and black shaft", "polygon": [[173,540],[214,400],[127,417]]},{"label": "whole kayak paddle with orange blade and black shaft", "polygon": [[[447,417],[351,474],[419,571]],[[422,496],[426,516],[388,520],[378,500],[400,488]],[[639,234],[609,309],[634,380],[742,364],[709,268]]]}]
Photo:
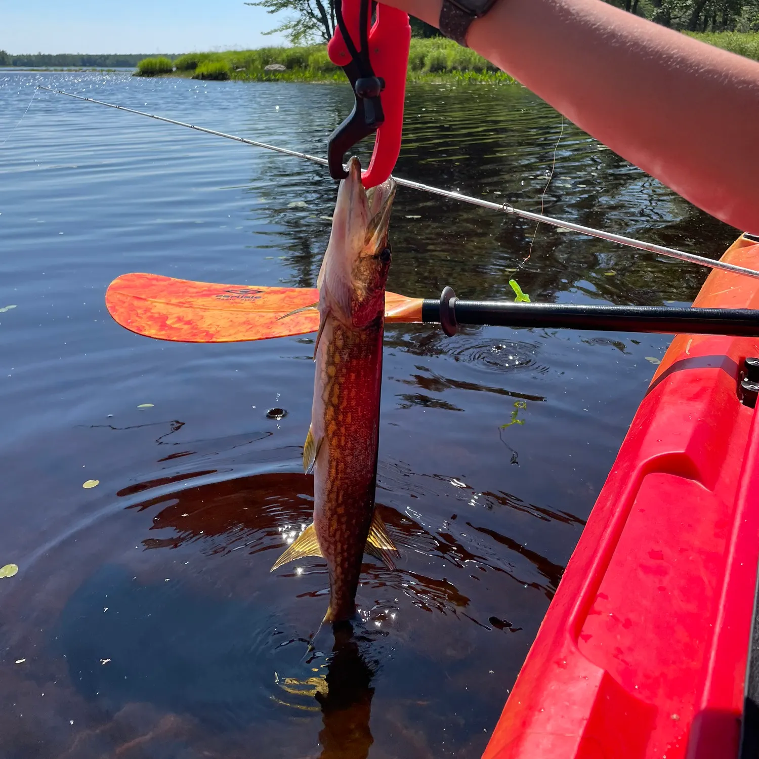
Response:
[{"label": "whole kayak paddle with orange blade and black shaft", "polygon": [[[124,274],[106,292],[114,320],[139,335],[175,342],[245,342],[305,335],[319,328],[316,288],[191,282],[157,274]],[[510,301],[463,301],[451,288],[439,299],[388,292],[386,323],[459,324],[759,336],[759,311]]]}]

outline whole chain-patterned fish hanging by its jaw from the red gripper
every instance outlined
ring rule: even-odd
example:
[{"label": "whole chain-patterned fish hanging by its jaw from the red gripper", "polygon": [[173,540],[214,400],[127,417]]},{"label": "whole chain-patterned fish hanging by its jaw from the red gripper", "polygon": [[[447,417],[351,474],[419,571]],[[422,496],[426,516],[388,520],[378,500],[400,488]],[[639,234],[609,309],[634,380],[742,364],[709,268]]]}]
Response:
[{"label": "whole chain-patterned fish hanging by its jaw from the red gripper", "polygon": [[303,451],[304,471],[313,471],[313,522],[272,572],[305,556],[326,559],[329,607],[323,622],[346,622],[356,615],[365,552],[389,568],[397,553],[374,505],[394,197],[392,177],[365,191],[361,163],[350,159],[317,279],[316,372]]}]

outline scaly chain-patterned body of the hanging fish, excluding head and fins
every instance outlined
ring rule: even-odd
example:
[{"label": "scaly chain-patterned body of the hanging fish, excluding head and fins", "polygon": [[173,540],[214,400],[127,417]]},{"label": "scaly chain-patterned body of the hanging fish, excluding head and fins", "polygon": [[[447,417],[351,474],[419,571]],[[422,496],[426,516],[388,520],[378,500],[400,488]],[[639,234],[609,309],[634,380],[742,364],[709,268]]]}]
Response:
[{"label": "scaly chain-patterned body of the hanging fish, excluding head and fins", "polygon": [[325,621],[355,614],[374,511],[382,340],[381,316],[360,330],[328,316],[317,348],[311,424],[321,440],[313,471],[313,524],[329,567]]}]

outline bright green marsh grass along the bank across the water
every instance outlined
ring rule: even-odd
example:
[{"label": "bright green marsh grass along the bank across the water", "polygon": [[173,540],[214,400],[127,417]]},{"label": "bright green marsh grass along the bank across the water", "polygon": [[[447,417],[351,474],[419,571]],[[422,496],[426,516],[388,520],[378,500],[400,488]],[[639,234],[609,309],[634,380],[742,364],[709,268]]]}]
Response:
[{"label": "bright green marsh grass along the bank across the water", "polygon": [[[746,58],[759,61],[759,32],[689,33],[696,39]],[[285,71],[266,71],[279,63]],[[335,66],[326,46],[268,47],[257,50],[191,52],[173,61],[177,74],[196,79],[238,79],[249,81],[344,82],[345,75]],[[145,58],[137,67],[139,76],[170,74],[172,61],[163,56]],[[432,37],[411,39],[408,81],[509,83],[512,77],[468,48],[451,39]]]}]

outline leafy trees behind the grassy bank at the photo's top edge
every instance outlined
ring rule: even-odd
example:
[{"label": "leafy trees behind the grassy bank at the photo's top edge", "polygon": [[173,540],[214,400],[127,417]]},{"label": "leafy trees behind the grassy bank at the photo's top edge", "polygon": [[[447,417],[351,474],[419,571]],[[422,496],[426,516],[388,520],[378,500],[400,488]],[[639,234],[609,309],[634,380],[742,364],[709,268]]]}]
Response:
[{"label": "leafy trees behind the grassy bank at the photo's top edge", "polygon": [[[759,0],[606,0],[657,24],[691,32],[759,32]],[[335,0],[255,0],[268,13],[289,11],[268,33],[282,33],[294,45],[327,42],[335,33]],[[411,19],[414,36],[435,36],[424,21]]]}]

